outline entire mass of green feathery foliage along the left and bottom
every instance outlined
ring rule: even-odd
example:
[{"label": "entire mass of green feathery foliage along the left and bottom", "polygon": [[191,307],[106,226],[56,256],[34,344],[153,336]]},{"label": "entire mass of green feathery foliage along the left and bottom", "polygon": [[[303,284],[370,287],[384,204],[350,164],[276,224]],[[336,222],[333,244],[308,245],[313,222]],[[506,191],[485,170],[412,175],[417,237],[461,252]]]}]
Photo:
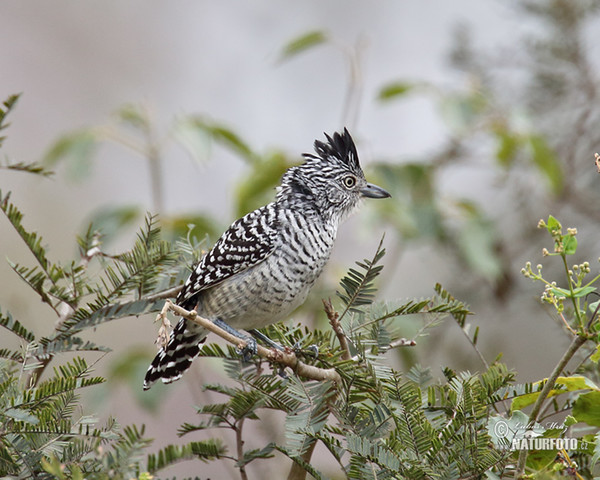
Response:
[{"label": "entire mass of green feathery foliage along the left and bottom", "polygon": [[[10,98],[0,108],[0,130],[15,103]],[[36,173],[33,165],[12,168]],[[120,428],[112,419],[100,425],[84,412],[82,389],[97,388],[104,379],[76,355],[109,351],[88,340],[91,329],[159,310],[161,292],[180,285],[198,259],[198,244],[189,236],[187,242],[163,240],[157,219],[148,215],[127,251],[103,251],[101,233],[90,227],[77,240],[79,258],[59,263],[41,235],[26,226],[10,194],[0,192],[0,210],[32,255],[29,264],[11,266],[45,304],[43,319],[54,326],[38,337],[31,322],[0,311],[0,327],[13,340],[0,347],[0,477],[149,480],[176,462],[219,461],[231,462],[247,478],[250,464],[258,468],[283,456],[316,479],[330,478],[311,461],[317,446],[337,465],[336,478],[361,480],[498,478],[513,460],[490,438],[489,419],[497,418],[504,400],[539,393],[541,385],[515,385],[512,372],[499,363],[482,373],[445,368],[437,381],[425,368],[393,368],[388,352],[414,345],[447,317],[466,333],[471,312],[441,285],[428,298],[375,301],[383,239],[370,259],[342,278],[339,314],[328,310],[335,332],[285,324],[263,329],[303,362],[334,369],[337,384],[299,378],[258,358],[244,363],[233,347],[206,344],[200,356],[220,359],[230,381],[204,386],[217,400],[197,408],[197,422],[180,427],[181,444],[149,453],[143,427]],[[423,322],[410,339],[398,327],[407,316]],[[475,347],[477,331],[469,341]],[[310,345],[319,347],[318,355],[302,349]],[[281,413],[282,435],[248,438],[248,425],[263,421],[266,411]],[[234,447],[221,439],[191,439],[213,429],[228,430]],[[591,455],[581,464],[588,465]]]}]

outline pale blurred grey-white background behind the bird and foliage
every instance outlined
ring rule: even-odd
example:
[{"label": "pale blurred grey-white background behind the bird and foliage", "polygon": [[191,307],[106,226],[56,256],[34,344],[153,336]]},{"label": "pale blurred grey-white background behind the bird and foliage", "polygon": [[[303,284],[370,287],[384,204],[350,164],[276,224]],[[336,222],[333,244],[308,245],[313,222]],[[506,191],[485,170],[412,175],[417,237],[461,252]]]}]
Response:
[{"label": "pale blurred grey-white background behind the bird and foliage", "polygon": [[[415,96],[382,105],[375,100],[378,89],[392,80],[426,81],[445,88],[464,85],[465,79],[448,66],[452,32],[465,23],[482,49],[502,45],[519,28],[514,12],[503,3],[510,2],[4,1],[0,96],[23,93],[5,132],[4,154],[17,161],[39,160],[61,134],[105,124],[112,112],[131,102],[147,105],[159,130],[178,115],[202,114],[230,126],[258,151],[274,147],[294,155],[310,151],[322,132],[343,126],[346,59],[327,45],[287,62],[277,59],[290,39],[318,29],[346,48],[363,45],[362,102],[352,125],[363,164],[373,159],[423,158],[446,135],[434,103]],[[216,149],[198,165],[175,147],[167,150],[165,160],[168,213],[207,210],[231,217],[232,182],[244,172],[240,160]],[[472,179],[467,176],[454,188],[483,188]],[[0,189],[12,190],[25,225],[35,226],[50,246],[51,258],[63,261],[76,254],[74,235],[83,230],[94,209],[126,203],[151,208],[145,162],[117,147],[102,148],[92,176],[83,181],[67,179],[60,168],[52,179],[1,171]],[[351,226],[360,224],[360,213],[357,217]],[[340,232],[335,254],[340,268],[371,255],[373,241],[382,233],[371,232],[373,239],[363,229],[357,240],[349,238],[352,231],[345,227]],[[129,241],[124,239],[124,246]],[[31,262],[5,219],[0,219],[0,247],[2,258]],[[401,262],[393,287],[396,296],[430,295],[440,275],[454,274],[444,272],[426,246]],[[37,317],[36,331],[50,332],[43,317],[48,312],[37,301],[30,302],[32,295],[4,260],[0,286],[5,309],[17,318]],[[151,347],[155,328],[149,317],[118,321],[101,327],[95,340],[126,341],[117,350],[130,343]],[[523,348],[507,345],[508,358]],[[204,362],[197,368],[211,367]],[[197,387],[189,382],[191,376],[188,384],[172,386],[176,393],[167,395],[158,418],[140,412],[126,390],[109,399],[107,411],[123,424],[146,423],[148,434],[160,437],[156,450],[178,441],[175,432],[182,422],[198,420],[193,410]],[[285,471],[289,462],[282,464]],[[226,478],[219,468],[220,462],[186,462],[162,476]]]}]

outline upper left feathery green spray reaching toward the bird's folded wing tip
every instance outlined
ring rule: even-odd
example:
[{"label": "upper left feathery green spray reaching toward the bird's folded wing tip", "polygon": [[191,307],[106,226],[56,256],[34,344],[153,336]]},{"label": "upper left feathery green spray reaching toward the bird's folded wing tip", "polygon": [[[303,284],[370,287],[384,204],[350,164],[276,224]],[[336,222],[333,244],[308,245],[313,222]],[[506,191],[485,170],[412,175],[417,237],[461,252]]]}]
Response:
[{"label": "upper left feathery green spray reaching toward the bird's folded wing tip", "polygon": [[[25,228],[23,214],[9,201],[9,196],[2,197],[1,192],[0,209],[37,261],[33,267],[11,263],[13,270],[59,317],[57,331],[40,339],[37,348],[31,350],[35,356],[44,357],[64,351],[106,350],[75,335],[110,320],[160,309],[160,301],[143,297],[156,291],[159,284],[162,286],[164,278],[168,282],[180,253],[160,239],[155,217],[146,218],[133,248],[116,256],[101,252],[97,239],[94,243],[94,236],[88,232],[86,238],[79,241],[81,261],[65,266],[48,258],[41,236]],[[88,265],[96,258],[103,267],[99,280],[90,278],[88,274]],[[18,328],[20,325],[8,319],[4,322],[2,318],[0,325],[6,328]],[[33,338],[28,337],[27,340],[32,341]]]}]

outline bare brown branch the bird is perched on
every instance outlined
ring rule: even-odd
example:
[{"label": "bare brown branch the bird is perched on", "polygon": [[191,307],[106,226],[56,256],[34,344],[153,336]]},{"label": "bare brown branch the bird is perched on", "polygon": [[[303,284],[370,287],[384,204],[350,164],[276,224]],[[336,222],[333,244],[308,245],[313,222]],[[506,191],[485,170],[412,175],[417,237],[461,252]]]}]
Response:
[{"label": "bare brown branch the bird is perched on", "polygon": [[[179,305],[175,305],[170,300],[166,301],[168,304],[167,309],[174,312],[176,315],[180,317],[185,317],[187,320],[190,320],[194,323],[197,323],[202,328],[218,335],[229,343],[236,345],[238,348],[244,348],[246,346],[246,340],[236,337],[235,335],[226,332],[225,330],[216,326],[210,320],[201,317],[195,311],[188,311],[184,308],[181,308]],[[342,377],[335,371],[333,368],[319,368],[313,365],[307,365],[306,363],[300,361],[298,357],[293,352],[285,351],[282,352],[280,350],[268,349],[263,347],[262,345],[256,346],[256,353],[258,356],[265,358],[271,362],[276,362],[286,367],[291,368],[298,376],[308,378],[310,380],[316,380],[319,382],[325,380],[331,380],[336,385],[341,384]]]}]

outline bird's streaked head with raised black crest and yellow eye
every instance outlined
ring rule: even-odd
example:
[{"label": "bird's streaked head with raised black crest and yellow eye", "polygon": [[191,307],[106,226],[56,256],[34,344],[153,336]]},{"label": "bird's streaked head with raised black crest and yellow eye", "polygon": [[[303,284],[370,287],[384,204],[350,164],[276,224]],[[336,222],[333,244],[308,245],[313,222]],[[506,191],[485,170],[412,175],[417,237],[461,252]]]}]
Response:
[{"label": "bird's streaked head with raised black crest and yellow eye", "polygon": [[284,174],[278,201],[289,202],[292,207],[313,207],[323,217],[339,223],[356,209],[361,198],[390,197],[365,179],[347,129],[325,137],[327,142],[315,141],[315,154],[305,153],[306,161]]}]

